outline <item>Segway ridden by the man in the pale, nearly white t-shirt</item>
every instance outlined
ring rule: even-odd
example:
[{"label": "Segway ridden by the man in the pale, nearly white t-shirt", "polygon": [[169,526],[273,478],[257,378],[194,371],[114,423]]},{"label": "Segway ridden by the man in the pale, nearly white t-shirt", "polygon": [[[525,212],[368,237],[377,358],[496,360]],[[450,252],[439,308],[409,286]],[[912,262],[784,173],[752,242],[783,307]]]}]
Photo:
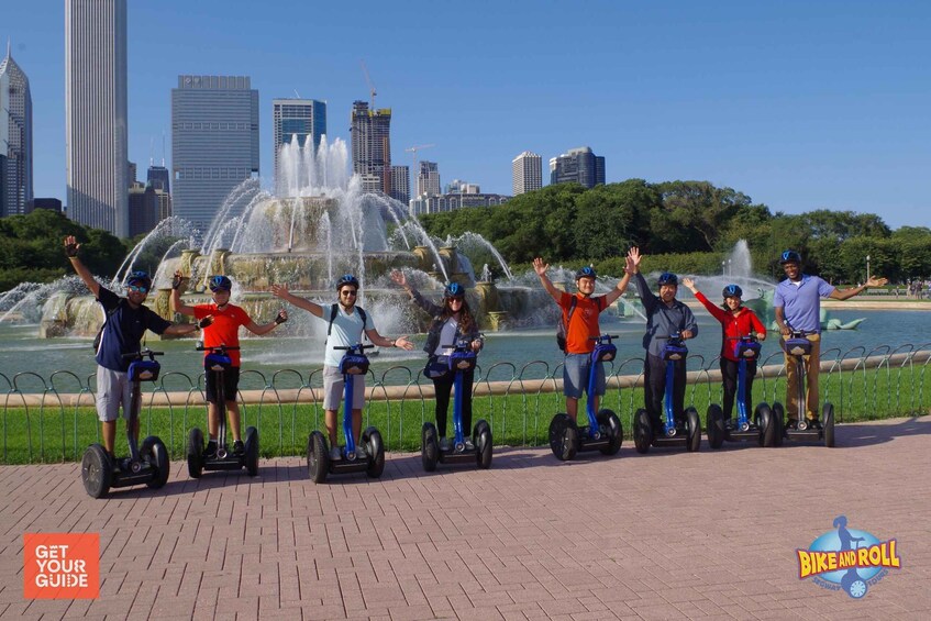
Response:
[{"label": "Segway ridden by the man in the pale, nearly white t-shirt", "polygon": [[310,434],[307,440],[307,474],[313,483],[325,481],[326,475],[330,474],[362,472],[372,478],[378,478],[385,470],[385,443],[378,430],[368,426],[362,432],[362,442],[367,453],[365,457],[356,452],[353,434],[353,384],[356,376],[368,373],[368,357],[365,355],[365,350],[372,347],[374,345],[362,343],[351,347],[333,347],[346,352],[340,361],[340,373],[343,374],[344,380],[343,433],[346,436],[346,445],[340,451],[339,459],[331,459],[330,446],[323,433],[314,431]]}]

